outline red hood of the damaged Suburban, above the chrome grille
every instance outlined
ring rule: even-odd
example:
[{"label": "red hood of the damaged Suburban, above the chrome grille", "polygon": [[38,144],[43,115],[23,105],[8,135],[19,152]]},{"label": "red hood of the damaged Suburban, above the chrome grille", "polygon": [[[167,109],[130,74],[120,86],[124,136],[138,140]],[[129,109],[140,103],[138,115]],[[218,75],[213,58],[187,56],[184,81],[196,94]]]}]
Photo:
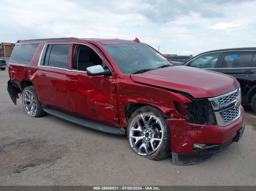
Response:
[{"label": "red hood of the damaged Suburban, above the chrome grille", "polygon": [[215,97],[238,88],[238,81],[230,75],[189,66],[171,66],[131,74],[131,79],[138,83],[186,92],[194,98]]}]

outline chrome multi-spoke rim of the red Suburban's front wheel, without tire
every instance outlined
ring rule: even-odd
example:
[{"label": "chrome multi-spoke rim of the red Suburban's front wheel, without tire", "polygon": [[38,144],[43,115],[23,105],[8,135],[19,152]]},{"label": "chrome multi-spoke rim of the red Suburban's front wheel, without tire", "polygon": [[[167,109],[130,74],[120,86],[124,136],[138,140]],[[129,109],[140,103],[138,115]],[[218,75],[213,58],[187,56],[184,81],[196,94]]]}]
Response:
[{"label": "chrome multi-spoke rim of the red Suburban's front wheel, without tire", "polygon": [[163,139],[163,125],[151,114],[141,114],[133,119],[129,132],[132,149],[139,155],[148,156],[159,148]]}]

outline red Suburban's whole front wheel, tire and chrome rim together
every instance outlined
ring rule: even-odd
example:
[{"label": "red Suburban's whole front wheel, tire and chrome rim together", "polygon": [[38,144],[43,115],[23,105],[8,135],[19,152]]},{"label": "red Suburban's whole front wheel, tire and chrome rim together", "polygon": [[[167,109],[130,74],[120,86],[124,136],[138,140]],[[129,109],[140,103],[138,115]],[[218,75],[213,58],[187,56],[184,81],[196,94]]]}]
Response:
[{"label": "red Suburban's whole front wheel, tire and chrome rim together", "polygon": [[145,158],[160,161],[171,154],[170,129],[160,110],[144,106],[137,109],[127,125],[132,150]]}]

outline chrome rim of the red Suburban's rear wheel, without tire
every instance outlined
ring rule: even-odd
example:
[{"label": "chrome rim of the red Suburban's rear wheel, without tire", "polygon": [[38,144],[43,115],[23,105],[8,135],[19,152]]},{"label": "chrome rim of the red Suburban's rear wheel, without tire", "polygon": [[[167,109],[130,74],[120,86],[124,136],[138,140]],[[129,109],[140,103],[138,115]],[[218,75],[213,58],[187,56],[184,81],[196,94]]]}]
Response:
[{"label": "chrome rim of the red Suburban's rear wheel, without tire", "polygon": [[29,90],[25,90],[22,95],[22,103],[25,111],[30,116],[35,116],[36,113],[36,101],[35,97]]}]

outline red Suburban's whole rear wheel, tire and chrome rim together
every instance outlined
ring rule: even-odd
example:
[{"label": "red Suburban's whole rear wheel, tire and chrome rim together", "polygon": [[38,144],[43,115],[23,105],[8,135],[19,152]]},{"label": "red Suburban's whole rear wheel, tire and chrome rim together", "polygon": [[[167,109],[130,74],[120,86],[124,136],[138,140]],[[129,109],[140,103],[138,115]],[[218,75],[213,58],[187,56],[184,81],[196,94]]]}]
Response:
[{"label": "red Suburban's whole rear wheel, tire and chrome rim together", "polygon": [[42,109],[42,105],[38,100],[38,96],[34,86],[27,86],[22,91],[22,104],[25,112],[30,117],[42,117],[46,113]]}]

